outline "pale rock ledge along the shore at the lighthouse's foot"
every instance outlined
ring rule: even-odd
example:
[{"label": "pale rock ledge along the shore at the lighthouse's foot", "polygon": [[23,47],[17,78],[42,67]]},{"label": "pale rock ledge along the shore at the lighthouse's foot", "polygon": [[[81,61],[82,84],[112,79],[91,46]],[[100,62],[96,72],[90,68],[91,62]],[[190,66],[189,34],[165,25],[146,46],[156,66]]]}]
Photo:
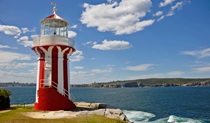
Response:
[{"label": "pale rock ledge along the shore at the lighthouse's foot", "polygon": [[58,119],[58,118],[74,118],[87,115],[100,115],[107,118],[118,119],[129,122],[126,115],[120,109],[115,109],[108,104],[104,103],[87,103],[76,102],[77,108],[72,111],[39,111],[39,112],[26,112],[23,115],[37,118],[37,119]]}]

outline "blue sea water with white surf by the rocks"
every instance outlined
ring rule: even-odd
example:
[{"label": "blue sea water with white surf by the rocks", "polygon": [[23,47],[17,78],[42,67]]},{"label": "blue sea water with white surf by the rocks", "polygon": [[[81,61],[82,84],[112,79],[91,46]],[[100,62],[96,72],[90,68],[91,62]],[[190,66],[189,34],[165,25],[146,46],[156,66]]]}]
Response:
[{"label": "blue sea water with white surf by the rocks", "polygon": [[[8,87],[11,104],[34,103],[35,87]],[[120,108],[135,123],[210,123],[210,87],[72,88],[72,100]]]}]

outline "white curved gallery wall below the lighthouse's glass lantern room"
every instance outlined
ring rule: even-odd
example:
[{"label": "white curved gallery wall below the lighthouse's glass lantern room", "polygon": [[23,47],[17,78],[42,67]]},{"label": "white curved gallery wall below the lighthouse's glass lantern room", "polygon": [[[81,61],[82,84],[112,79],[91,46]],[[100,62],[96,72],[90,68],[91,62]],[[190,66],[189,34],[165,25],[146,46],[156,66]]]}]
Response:
[{"label": "white curved gallery wall below the lighthouse's glass lantern room", "polygon": [[74,40],[58,35],[36,36],[33,39],[33,47],[40,45],[67,45],[74,47]]}]

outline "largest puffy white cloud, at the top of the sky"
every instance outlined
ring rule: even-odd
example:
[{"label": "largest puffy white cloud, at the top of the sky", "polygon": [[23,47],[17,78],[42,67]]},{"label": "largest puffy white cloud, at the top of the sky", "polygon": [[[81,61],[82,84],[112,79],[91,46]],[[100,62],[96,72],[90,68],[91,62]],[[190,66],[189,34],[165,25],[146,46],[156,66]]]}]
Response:
[{"label": "largest puffy white cloud, at the top of the sky", "polygon": [[90,5],[85,3],[80,21],[98,31],[112,31],[116,35],[131,34],[143,30],[154,20],[141,20],[150,11],[150,0],[123,0],[121,2]]}]

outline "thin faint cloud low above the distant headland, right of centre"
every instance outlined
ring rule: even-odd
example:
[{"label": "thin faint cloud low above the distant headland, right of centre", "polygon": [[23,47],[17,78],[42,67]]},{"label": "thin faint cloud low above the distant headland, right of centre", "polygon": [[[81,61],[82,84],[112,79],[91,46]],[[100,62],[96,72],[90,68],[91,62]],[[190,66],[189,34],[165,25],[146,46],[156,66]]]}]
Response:
[{"label": "thin faint cloud low above the distant headland, right of centre", "polygon": [[154,64],[140,64],[137,66],[128,66],[126,68],[124,68],[124,70],[130,70],[130,71],[146,71],[151,69],[153,66],[155,66]]}]

